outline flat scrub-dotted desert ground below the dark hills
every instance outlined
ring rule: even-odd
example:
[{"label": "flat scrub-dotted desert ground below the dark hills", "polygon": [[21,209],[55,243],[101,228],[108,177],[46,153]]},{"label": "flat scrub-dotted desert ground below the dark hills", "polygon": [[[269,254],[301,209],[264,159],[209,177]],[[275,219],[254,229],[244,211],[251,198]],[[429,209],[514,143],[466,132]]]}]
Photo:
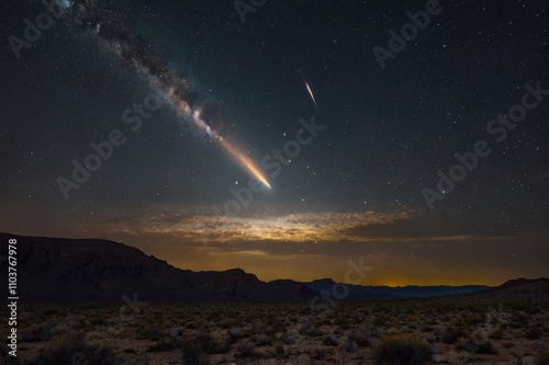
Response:
[{"label": "flat scrub-dotted desert ground below the dark hills", "polygon": [[549,364],[546,304],[35,303],[19,316],[19,364]]}]

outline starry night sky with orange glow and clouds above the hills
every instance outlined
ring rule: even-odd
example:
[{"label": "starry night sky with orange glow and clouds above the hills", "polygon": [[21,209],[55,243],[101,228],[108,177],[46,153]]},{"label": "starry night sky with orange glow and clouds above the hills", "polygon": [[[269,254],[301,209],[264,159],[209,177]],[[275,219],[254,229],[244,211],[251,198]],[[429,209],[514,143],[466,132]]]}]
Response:
[{"label": "starry night sky with orange glow and clouds above the hills", "polygon": [[1,4],[0,231],[264,281],[549,276],[546,1],[83,3]]}]

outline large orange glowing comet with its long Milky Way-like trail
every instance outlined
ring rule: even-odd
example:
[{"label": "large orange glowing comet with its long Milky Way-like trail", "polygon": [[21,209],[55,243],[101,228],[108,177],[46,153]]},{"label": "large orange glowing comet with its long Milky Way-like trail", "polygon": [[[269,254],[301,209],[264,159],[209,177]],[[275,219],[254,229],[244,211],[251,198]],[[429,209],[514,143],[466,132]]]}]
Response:
[{"label": "large orange glowing comet with its long Milky Way-like trail", "polygon": [[154,47],[133,27],[135,22],[104,9],[99,0],[61,0],[61,5],[65,19],[71,21],[75,27],[99,37],[103,41],[101,44],[112,50],[113,55],[148,77],[155,90],[168,100],[181,119],[192,123],[201,133],[215,140],[244,170],[271,189],[251,158],[223,138],[202,117],[202,111],[205,109],[208,112],[209,103],[193,90],[191,80],[184,73],[154,52]]}]

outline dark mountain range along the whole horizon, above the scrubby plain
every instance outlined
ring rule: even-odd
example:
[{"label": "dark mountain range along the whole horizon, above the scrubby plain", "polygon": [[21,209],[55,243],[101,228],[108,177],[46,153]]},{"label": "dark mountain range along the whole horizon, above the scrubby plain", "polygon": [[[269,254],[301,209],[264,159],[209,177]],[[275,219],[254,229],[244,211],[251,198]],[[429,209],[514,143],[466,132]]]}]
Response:
[{"label": "dark mountain range along the whole horizon, above the scrubby plain", "polygon": [[[18,240],[18,289],[29,301],[120,301],[134,293],[143,301],[307,301],[336,284],[329,278],[310,283],[262,282],[240,269],[193,272],[171,266],[123,243],[97,239],[60,239],[0,233],[0,256],[8,240]],[[5,259],[4,259],[5,260]],[[0,265],[5,266],[0,258]],[[7,270],[2,269],[2,276]],[[7,283],[7,280],[4,281]],[[518,280],[492,288],[467,286],[347,285],[344,300],[426,298],[457,295],[479,300],[507,298],[549,303],[549,280]],[[508,301],[508,300],[507,300]],[[518,301],[518,300],[517,300]]]}]

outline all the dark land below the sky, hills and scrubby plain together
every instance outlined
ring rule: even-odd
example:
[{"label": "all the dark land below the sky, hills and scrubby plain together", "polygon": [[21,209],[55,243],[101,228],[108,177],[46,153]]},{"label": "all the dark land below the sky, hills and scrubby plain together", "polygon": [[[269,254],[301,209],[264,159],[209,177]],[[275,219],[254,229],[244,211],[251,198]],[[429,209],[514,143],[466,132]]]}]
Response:
[{"label": "all the dark land below the sky, hills and scrubby plain together", "polygon": [[[337,301],[329,280],[265,283],[239,269],[180,270],[117,242],[0,236],[0,255],[18,240],[22,296],[9,364],[549,365],[547,278],[349,285]],[[0,313],[8,322],[5,303]]]}]

